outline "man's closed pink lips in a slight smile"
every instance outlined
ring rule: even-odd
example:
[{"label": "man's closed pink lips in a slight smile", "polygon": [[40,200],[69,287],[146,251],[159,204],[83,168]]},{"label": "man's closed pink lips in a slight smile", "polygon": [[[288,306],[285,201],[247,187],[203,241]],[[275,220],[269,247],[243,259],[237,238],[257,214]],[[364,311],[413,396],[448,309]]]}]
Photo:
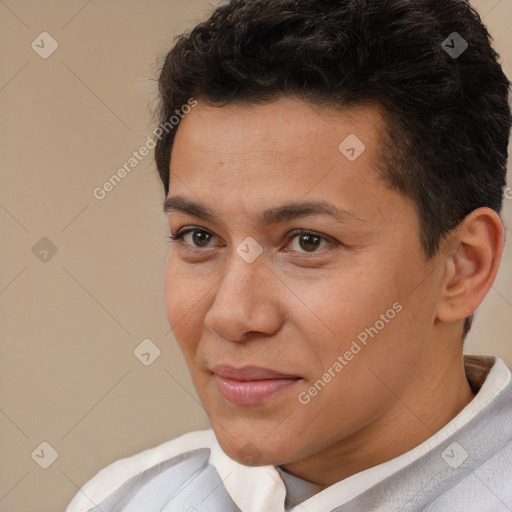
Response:
[{"label": "man's closed pink lips in a slight smile", "polygon": [[234,368],[218,365],[211,372],[220,394],[236,406],[260,404],[301,380],[296,375],[256,366]]}]

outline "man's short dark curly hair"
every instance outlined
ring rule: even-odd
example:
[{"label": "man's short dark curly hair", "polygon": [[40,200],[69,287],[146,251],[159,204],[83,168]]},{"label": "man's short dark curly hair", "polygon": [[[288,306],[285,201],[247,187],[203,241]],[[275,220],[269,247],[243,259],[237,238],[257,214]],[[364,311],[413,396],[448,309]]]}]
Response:
[{"label": "man's short dark curly hair", "polygon": [[[454,32],[468,45],[461,55],[447,51]],[[431,257],[471,211],[501,211],[509,87],[466,0],[230,0],[168,53],[159,116],[169,122],[191,97],[219,107],[285,95],[383,107],[377,171],[413,200]],[[175,133],[155,148],[166,195]]]}]

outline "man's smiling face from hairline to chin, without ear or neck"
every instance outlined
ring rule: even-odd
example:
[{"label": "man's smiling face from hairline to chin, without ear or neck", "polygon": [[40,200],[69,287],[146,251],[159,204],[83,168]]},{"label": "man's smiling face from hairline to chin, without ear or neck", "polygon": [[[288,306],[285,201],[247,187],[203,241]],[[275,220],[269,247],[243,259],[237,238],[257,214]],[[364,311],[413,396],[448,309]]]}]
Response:
[{"label": "man's smiling face from hairline to chin, without ear or neck", "polygon": [[289,98],[200,103],[179,127],[168,218],[190,231],[169,250],[167,311],[234,459],[284,464],[371,430],[432,363],[439,272],[377,176],[384,129],[371,107]]}]

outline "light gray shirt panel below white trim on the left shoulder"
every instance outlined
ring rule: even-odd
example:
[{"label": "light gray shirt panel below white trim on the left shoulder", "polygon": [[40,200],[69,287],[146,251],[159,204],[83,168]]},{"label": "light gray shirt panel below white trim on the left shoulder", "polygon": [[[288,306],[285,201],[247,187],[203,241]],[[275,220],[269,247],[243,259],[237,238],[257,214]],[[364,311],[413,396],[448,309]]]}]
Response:
[{"label": "light gray shirt panel below white trim on the left shoulder", "polygon": [[134,476],[89,512],[240,512],[208,465],[210,450],[173,457]]}]

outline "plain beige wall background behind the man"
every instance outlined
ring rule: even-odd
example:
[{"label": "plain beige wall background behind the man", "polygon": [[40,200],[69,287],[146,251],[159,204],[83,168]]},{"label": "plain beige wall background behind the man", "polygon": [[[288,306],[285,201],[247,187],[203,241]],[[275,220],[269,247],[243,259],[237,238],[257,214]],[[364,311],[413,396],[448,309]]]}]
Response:
[{"label": "plain beige wall background behind the man", "polygon": [[[62,511],[108,463],[208,425],[165,315],[152,155],[92,192],[154,127],[158,56],[215,3],[0,0],[0,512]],[[512,77],[512,0],[474,5]],[[59,45],[47,59],[31,48],[43,31]],[[511,199],[503,218],[505,261],[467,351],[512,365]],[[147,338],[150,366],[133,353]],[[48,469],[42,442],[58,452]]]}]

